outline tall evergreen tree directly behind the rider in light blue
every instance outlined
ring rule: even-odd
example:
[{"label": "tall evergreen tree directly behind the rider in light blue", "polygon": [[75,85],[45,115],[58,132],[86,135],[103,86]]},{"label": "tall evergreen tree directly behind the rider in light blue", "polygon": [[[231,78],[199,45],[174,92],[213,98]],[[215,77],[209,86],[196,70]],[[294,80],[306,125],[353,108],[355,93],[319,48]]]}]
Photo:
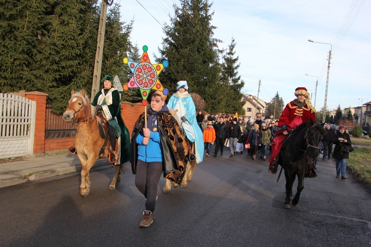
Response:
[{"label": "tall evergreen tree directly behind the rider in light blue", "polygon": [[165,25],[166,37],[159,49],[161,58],[169,67],[161,73],[161,83],[170,95],[176,91],[176,82],[185,80],[189,92],[196,92],[206,102],[206,111],[216,111],[221,102],[219,90],[220,65],[217,44],[211,25],[212,4],[207,0],[180,0],[174,5],[175,15],[171,26]]}]

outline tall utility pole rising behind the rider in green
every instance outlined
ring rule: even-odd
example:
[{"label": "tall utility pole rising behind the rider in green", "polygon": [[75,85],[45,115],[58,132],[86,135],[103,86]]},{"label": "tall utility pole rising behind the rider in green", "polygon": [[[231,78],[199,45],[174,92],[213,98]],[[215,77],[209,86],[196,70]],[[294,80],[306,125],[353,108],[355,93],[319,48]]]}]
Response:
[{"label": "tall utility pole rising behind the rider in green", "polygon": [[102,69],[104,32],[106,30],[106,17],[107,17],[107,2],[106,0],[102,0],[102,4],[100,8],[100,17],[99,17],[98,38],[96,40],[96,52],[95,52],[91,100],[94,99],[95,94],[99,91],[100,72]]}]

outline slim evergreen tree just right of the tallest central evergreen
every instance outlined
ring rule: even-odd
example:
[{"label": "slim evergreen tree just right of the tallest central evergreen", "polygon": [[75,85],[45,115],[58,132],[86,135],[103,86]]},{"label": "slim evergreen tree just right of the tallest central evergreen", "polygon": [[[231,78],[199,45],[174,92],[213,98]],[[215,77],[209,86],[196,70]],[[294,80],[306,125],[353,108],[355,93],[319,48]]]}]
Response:
[{"label": "slim evergreen tree just right of the tallest central evergreen", "polygon": [[238,112],[239,115],[245,115],[244,102],[241,101],[241,89],[245,83],[241,80],[241,76],[237,76],[240,64],[238,63],[238,56],[234,57],[235,45],[234,38],[232,38],[228,50],[223,55],[221,82],[227,82],[227,84],[222,83],[223,86],[221,86],[221,89],[225,88],[222,91],[222,96],[220,96],[223,97],[222,104],[224,109],[219,108],[219,111],[227,113]]}]

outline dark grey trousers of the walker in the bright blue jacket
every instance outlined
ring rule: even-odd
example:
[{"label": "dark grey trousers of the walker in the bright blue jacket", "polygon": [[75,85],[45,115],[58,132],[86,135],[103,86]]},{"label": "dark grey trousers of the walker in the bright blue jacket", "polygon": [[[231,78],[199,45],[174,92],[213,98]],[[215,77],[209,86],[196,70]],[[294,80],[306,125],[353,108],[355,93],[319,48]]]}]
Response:
[{"label": "dark grey trousers of the walker in the bright blue jacket", "polygon": [[145,210],[153,212],[156,206],[158,181],[162,174],[162,162],[143,162],[138,160],[135,185],[144,198]]}]

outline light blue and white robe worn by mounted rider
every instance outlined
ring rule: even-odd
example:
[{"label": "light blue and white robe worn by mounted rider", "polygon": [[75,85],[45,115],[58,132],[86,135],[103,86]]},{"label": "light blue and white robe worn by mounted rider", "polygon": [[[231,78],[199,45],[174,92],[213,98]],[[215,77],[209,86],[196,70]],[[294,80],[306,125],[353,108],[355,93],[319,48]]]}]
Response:
[{"label": "light blue and white robe worn by mounted rider", "polygon": [[[177,115],[179,119],[185,117],[188,120],[188,123],[182,123],[182,127],[188,140],[195,144],[194,155],[196,156],[196,163],[202,162],[204,152],[203,135],[196,121],[196,107],[192,97],[187,91],[183,94],[178,91],[171,96],[167,107],[178,110]],[[182,112],[185,114],[183,115]]]}]

